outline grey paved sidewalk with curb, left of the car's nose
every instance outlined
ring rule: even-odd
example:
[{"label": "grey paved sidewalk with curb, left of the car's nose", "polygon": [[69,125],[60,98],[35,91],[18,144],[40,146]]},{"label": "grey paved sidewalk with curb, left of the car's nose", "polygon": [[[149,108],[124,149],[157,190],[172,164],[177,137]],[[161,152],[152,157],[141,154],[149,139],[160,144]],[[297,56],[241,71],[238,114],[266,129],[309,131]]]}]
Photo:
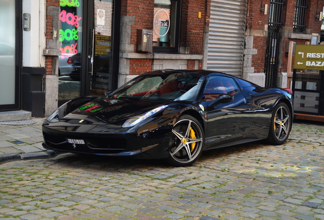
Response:
[{"label": "grey paved sidewalk with curb, left of the car's nose", "polygon": [[57,156],[60,152],[42,147],[42,123],[44,120],[45,118],[33,118],[31,120],[14,121],[17,123],[0,122],[6,123],[0,124],[0,164],[21,159]]}]

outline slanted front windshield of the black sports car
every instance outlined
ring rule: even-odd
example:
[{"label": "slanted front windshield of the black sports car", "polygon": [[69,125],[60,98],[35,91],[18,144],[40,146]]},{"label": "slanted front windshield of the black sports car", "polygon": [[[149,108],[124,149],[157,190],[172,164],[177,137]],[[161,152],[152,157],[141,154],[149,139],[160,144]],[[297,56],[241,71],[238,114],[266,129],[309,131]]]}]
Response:
[{"label": "slanted front windshield of the black sports car", "polygon": [[197,73],[143,75],[134,78],[110,96],[149,100],[196,100],[203,76]]}]

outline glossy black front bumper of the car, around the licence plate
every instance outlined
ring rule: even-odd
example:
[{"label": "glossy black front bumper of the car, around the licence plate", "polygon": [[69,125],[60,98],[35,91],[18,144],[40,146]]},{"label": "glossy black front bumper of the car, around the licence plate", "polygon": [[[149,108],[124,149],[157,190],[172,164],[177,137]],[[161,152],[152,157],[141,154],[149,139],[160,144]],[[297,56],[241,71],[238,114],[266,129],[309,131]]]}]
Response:
[{"label": "glossy black front bumper of the car, around the licence plate", "polygon": [[[43,147],[71,153],[136,158],[166,158],[169,156],[171,130],[156,129],[145,133],[78,133],[43,126]],[[83,140],[85,144],[71,144],[67,139]]]}]

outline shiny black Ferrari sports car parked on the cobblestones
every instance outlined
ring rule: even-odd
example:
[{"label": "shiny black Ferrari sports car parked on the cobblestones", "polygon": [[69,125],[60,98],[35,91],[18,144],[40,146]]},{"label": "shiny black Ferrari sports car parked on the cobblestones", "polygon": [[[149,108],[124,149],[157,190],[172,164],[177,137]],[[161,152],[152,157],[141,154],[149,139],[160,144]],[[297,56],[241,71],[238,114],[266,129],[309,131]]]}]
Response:
[{"label": "shiny black Ferrari sports car parked on the cobblestones", "polygon": [[286,142],[292,95],[214,71],[158,70],[106,97],[80,97],[43,124],[46,149],[194,163],[203,150]]}]

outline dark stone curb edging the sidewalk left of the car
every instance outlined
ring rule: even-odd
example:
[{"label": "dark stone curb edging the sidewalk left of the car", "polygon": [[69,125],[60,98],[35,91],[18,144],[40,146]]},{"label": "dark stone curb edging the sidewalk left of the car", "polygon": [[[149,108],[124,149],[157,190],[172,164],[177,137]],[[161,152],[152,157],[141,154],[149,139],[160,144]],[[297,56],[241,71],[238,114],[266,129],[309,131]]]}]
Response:
[{"label": "dark stone curb edging the sidewalk left of the car", "polygon": [[17,153],[8,153],[8,154],[0,154],[0,164],[12,162],[16,160],[29,160],[29,159],[46,159],[46,158],[53,158],[56,157],[64,152],[61,151],[53,151],[47,150],[43,152],[36,152],[36,153],[24,153],[24,154],[17,154]]}]

